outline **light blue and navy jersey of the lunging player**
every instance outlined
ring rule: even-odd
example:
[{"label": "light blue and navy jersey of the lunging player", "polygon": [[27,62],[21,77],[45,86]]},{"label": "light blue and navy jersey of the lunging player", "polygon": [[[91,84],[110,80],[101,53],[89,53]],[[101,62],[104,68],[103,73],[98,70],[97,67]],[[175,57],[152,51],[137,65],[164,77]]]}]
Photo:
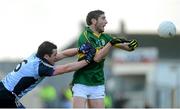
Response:
[{"label": "light blue and navy jersey of the lunging player", "polygon": [[5,88],[21,98],[40,83],[44,77],[51,76],[54,66],[35,54],[23,60],[14,71],[2,79]]}]

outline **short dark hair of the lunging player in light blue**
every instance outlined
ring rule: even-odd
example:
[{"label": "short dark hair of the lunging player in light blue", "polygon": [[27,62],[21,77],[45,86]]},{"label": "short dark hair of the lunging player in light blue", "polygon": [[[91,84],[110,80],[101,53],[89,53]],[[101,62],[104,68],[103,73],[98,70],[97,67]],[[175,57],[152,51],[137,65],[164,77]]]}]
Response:
[{"label": "short dark hair of the lunging player in light blue", "polygon": [[45,54],[51,55],[53,53],[53,49],[57,49],[57,46],[49,41],[44,41],[39,47],[37,51],[37,56],[39,58],[43,58]]}]

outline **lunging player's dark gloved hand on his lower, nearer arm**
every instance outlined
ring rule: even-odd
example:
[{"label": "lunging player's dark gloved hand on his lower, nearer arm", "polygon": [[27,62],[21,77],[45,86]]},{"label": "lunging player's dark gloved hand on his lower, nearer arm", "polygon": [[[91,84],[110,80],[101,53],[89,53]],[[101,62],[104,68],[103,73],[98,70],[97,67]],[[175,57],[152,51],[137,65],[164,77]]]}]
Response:
[{"label": "lunging player's dark gloved hand on his lower, nearer arm", "polygon": [[94,61],[95,54],[96,54],[96,49],[91,48],[87,53],[85,53],[84,59],[86,60],[87,63],[91,63]]}]

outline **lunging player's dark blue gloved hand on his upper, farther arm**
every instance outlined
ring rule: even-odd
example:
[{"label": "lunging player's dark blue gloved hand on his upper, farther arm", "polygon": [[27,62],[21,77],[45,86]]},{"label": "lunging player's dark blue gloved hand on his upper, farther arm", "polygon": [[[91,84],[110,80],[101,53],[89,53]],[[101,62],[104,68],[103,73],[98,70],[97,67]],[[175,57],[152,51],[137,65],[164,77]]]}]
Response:
[{"label": "lunging player's dark blue gloved hand on his upper, farther arm", "polygon": [[79,53],[87,53],[92,48],[93,48],[93,46],[90,43],[86,42],[79,47],[78,52]]}]

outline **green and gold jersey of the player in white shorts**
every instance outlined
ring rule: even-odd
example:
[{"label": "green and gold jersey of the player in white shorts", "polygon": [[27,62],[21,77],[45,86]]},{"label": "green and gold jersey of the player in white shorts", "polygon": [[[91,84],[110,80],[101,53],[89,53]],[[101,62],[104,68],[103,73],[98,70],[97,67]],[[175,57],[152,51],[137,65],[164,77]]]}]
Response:
[{"label": "green and gold jersey of the player in white shorts", "polygon": [[[86,27],[85,30],[79,37],[78,46],[81,46],[83,43],[90,42],[96,52],[98,52],[102,47],[104,47],[112,37],[108,34],[102,33],[99,36],[93,33],[93,31]],[[78,60],[83,59],[83,54],[78,54]],[[76,71],[73,76],[72,84],[84,84],[88,86],[96,86],[104,84],[104,61],[93,62],[87,65],[84,68]]]}]

